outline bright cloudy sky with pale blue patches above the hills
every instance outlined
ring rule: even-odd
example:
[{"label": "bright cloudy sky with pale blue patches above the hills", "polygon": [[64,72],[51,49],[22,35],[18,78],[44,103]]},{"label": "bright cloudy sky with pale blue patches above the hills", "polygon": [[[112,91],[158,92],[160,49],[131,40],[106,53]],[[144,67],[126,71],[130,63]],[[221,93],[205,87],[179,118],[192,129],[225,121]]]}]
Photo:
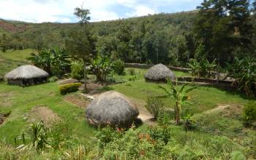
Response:
[{"label": "bright cloudy sky with pale blue patches above the hills", "polygon": [[195,9],[203,0],[0,0],[0,18],[29,23],[75,23],[75,7],[90,9],[91,21]]}]

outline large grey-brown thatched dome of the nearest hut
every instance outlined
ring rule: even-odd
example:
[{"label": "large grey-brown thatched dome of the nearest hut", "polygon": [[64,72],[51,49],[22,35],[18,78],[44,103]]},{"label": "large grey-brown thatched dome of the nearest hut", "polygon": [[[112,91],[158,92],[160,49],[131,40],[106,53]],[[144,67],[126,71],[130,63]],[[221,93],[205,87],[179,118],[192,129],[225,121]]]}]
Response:
[{"label": "large grey-brown thatched dome of the nearest hut", "polygon": [[105,126],[110,124],[128,127],[139,114],[136,105],[121,93],[110,91],[99,95],[86,108],[86,119],[89,124]]}]

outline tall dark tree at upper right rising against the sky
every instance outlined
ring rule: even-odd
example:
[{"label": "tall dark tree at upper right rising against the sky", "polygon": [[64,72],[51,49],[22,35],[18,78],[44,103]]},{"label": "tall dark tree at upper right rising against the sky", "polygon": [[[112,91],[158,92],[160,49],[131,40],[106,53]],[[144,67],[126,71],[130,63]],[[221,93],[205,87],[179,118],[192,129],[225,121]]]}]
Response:
[{"label": "tall dark tree at upper right rising against the sky", "polygon": [[194,31],[208,60],[217,58],[219,65],[225,65],[238,49],[242,53],[252,52],[253,30],[248,0],[205,0],[197,8],[200,10]]}]

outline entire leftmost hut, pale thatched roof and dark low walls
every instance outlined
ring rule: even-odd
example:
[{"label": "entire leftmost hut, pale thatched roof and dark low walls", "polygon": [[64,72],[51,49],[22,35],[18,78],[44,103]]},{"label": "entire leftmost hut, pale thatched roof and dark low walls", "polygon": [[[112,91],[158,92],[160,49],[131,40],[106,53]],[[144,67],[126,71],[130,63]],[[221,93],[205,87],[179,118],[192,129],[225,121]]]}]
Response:
[{"label": "entire leftmost hut, pale thatched roof and dark low walls", "polygon": [[34,65],[22,65],[4,76],[8,84],[29,86],[41,84],[47,81],[49,74]]}]

